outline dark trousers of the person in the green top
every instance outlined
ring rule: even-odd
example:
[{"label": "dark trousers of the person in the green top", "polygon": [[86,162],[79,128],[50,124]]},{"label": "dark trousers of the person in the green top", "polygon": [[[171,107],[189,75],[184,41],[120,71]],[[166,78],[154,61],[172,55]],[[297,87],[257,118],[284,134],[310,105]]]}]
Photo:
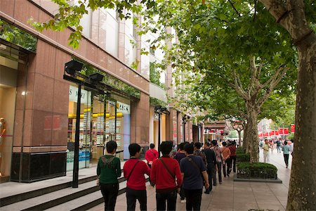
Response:
[{"label": "dark trousers of the person in the green top", "polygon": [[104,210],[114,210],[119,193],[119,184],[100,184],[100,189],[104,198]]}]

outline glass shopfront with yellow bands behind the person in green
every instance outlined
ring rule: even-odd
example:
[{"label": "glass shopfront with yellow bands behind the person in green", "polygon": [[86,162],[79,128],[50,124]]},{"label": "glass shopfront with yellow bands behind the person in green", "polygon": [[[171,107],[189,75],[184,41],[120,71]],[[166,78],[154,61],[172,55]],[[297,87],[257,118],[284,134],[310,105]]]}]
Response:
[{"label": "glass shopfront with yellow bands behind the person in green", "polygon": [[[78,88],[70,85],[68,113],[67,171],[74,165],[74,136],[76,130]],[[79,168],[97,165],[105,153],[107,141],[117,141],[117,157],[129,158],[131,141],[131,102],[113,95],[94,94],[81,89]]]}]

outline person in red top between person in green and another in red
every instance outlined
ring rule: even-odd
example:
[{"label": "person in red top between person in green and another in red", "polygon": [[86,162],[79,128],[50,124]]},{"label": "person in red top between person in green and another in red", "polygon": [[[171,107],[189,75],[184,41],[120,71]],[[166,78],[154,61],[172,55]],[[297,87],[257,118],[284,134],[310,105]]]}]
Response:
[{"label": "person in red top between person in green and another in red", "polygon": [[136,209],[136,199],[140,203],[140,210],[147,210],[147,192],[145,174],[150,176],[150,168],[143,160],[139,160],[140,146],[138,143],[129,145],[131,158],[123,167],[126,184],[127,210]]}]

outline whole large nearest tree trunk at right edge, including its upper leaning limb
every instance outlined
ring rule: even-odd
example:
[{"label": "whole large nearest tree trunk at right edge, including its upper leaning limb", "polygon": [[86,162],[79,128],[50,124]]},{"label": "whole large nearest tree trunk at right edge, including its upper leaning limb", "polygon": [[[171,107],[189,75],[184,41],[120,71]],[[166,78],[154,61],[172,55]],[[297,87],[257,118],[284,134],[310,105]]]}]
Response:
[{"label": "whole large nearest tree trunk at right edge, including its upper leaning limb", "polygon": [[287,210],[316,210],[316,34],[303,0],[259,0],[298,47],[296,132]]}]

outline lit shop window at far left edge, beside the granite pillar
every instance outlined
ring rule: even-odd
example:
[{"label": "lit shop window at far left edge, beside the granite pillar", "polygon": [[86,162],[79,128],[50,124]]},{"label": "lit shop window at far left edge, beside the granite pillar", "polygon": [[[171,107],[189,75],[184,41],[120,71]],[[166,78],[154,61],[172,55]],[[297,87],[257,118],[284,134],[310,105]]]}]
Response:
[{"label": "lit shop window at far left edge, beside the granite pillar", "polygon": [[26,95],[24,82],[18,86],[19,63],[25,63],[26,58],[27,54],[0,43],[0,183],[10,177],[15,101]]}]

